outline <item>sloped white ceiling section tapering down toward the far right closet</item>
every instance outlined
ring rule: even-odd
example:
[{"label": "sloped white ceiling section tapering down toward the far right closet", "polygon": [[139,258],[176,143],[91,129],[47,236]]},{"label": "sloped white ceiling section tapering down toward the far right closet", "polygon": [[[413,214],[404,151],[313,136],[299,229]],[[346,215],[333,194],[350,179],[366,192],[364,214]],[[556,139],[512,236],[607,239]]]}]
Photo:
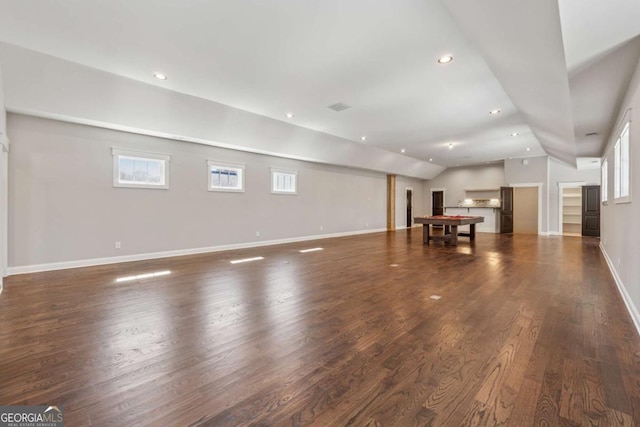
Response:
[{"label": "sloped white ceiling section tapering down toward the far right closet", "polygon": [[444,0],[547,154],[576,165],[556,0]]}]

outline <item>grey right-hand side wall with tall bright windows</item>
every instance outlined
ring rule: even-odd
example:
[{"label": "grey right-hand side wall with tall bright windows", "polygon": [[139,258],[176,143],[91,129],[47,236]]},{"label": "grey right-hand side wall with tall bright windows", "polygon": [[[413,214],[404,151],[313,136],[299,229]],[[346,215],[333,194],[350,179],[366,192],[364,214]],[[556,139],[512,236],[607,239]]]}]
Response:
[{"label": "grey right-hand side wall with tall bright windows", "polygon": [[[603,158],[609,160],[609,202],[601,211],[601,248],[609,261],[616,282],[621,290],[627,307],[640,331],[640,62],[636,66],[624,101],[617,115],[617,125],[626,122],[625,113],[631,120],[631,203],[616,204],[613,201],[613,144],[618,136],[619,127],[614,128],[609,137]],[[624,118],[624,120],[623,120]]]}]

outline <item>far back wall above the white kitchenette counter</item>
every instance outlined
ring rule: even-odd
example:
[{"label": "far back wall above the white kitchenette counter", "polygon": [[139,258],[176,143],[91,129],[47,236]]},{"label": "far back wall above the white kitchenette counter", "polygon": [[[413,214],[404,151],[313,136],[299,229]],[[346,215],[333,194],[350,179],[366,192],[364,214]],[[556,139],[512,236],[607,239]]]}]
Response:
[{"label": "far back wall above the white kitchenette counter", "polygon": [[502,163],[449,168],[425,184],[425,213],[431,213],[431,189],[445,189],[445,206],[457,206],[465,189],[499,188],[504,185]]}]

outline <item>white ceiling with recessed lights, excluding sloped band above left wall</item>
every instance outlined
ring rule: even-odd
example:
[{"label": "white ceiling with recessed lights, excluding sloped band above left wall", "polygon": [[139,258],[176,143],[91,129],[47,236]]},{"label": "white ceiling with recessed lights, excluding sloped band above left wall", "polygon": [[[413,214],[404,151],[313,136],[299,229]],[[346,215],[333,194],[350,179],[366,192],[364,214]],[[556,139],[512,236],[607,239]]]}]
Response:
[{"label": "white ceiling with recessed lights, excluding sloped band above left wall", "polygon": [[0,41],[447,167],[598,157],[638,22],[637,0],[0,0]]}]

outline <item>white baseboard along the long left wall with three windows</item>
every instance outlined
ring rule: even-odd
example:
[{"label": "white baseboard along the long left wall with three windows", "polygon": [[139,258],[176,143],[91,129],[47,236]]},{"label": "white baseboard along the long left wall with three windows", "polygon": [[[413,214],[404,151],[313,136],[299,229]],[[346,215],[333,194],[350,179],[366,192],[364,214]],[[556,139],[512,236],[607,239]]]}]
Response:
[{"label": "white baseboard along the long left wall with three windows", "polygon": [[69,268],[94,267],[97,265],[117,264],[120,262],[145,261],[157,258],[169,258],[185,255],[197,255],[211,252],[230,251],[234,249],[258,248],[261,246],[282,245],[285,243],[304,242],[307,240],[331,239],[335,237],[355,236],[358,234],[380,233],[387,231],[386,228],[376,228],[371,230],[348,231],[343,233],[320,234],[313,236],[292,237],[288,239],[264,240],[261,242],[238,243],[232,245],[210,246],[205,248],[180,249],[175,251],[152,252],[135,255],[124,255],[107,258],[92,258],[78,261],[54,262],[49,264],[22,265],[17,267],[9,267],[8,275],[15,276],[18,274],[40,273],[43,271],[66,270]]}]

